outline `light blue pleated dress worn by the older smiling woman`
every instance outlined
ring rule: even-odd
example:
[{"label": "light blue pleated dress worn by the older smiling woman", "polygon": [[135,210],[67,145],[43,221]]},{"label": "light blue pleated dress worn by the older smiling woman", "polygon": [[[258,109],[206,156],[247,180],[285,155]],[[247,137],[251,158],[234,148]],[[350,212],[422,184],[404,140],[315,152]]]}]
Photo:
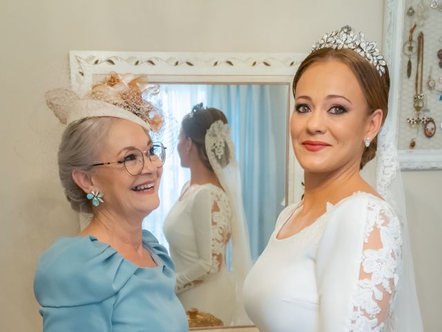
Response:
[{"label": "light blue pleated dress worn by the older smiling woman", "polygon": [[41,257],[34,292],[44,332],[184,332],[167,250],[143,230],[156,267],[140,268],[93,236],[61,237]]}]

